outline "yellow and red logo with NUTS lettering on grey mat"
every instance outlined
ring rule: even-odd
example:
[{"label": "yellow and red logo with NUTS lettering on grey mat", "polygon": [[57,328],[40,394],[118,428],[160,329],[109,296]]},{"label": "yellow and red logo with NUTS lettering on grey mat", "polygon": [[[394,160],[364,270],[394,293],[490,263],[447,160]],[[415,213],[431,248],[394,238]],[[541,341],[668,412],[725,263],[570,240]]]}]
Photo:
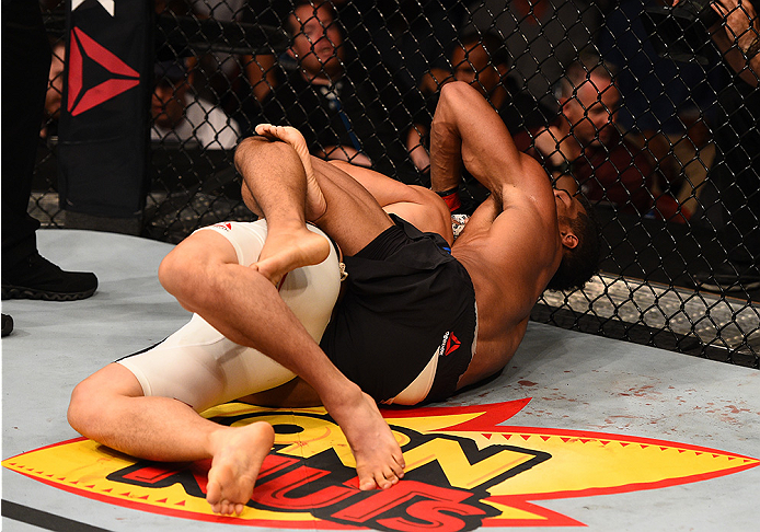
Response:
[{"label": "yellow and red logo with NUTS lettering on grey mat", "polygon": [[404,481],[360,491],[343,432],[323,408],[230,403],[204,413],[239,426],[270,423],[275,446],[239,517],[205,500],[205,462],[135,460],[78,438],[4,460],[57,488],[113,505],[232,524],[309,529],[460,531],[583,524],[536,501],[656,489],[737,473],[760,460],[686,443],[499,425],[530,400],[385,409],[402,446]]}]

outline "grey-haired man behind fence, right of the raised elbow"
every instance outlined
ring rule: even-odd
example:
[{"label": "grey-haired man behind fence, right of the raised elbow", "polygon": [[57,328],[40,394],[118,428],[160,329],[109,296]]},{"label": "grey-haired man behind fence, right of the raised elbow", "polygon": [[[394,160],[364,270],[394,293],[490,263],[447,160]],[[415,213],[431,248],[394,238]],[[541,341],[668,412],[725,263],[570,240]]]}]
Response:
[{"label": "grey-haired man behind fence, right of the raised elbow", "polygon": [[[591,201],[644,216],[654,205],[649,158],[623,138],[615,126],[620,93],[614,70],[599,56],[581,53],[557,88],[560,116],[550,126],[516,138],[519,149],[550,169],[557,188],[578,188]],[[675,199],[663,205],[675,210]],[[659,204],[658,204],[659,206]]]}]

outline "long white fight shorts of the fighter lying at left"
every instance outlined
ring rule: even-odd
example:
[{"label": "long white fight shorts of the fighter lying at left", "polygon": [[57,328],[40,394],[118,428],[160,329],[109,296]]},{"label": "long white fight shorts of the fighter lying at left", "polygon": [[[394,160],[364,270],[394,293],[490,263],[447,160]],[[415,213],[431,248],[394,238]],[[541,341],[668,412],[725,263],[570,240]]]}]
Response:
[{"label": "long white fight shorts of the fighter lying at left", "polygon": [[[318,228],[309,229],[327,239]],[[250,266],[264,245],[266,222],[223,222],[198,231],[224,236],[234,247],[238,263]],[[337,253],[332,242],[330,247],[326,259],[290,271],[279,288],[283,300],[316,343],[341,288]],[[197,314],[165,340],[118,363],[135,374],[145,395],[173,397],[196,412],[270,390],[296,377],[256,349],[227,339]]]}]

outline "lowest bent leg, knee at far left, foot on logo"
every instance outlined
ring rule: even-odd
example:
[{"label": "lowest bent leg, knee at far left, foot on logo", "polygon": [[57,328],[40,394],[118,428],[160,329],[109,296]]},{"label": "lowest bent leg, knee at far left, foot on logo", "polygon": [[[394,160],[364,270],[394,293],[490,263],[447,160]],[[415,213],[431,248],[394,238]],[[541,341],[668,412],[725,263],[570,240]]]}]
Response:
[{"label": "lowest bent leg, knee at far left, foot on logo", "polygon": [[241,513],[274,443],[266,423],[224,427],[169,397],[146,397],[135,375],[111,363],[77,385],[68,419],[82,436],[146,460],[211,459],[207,500],[218,513]]}]

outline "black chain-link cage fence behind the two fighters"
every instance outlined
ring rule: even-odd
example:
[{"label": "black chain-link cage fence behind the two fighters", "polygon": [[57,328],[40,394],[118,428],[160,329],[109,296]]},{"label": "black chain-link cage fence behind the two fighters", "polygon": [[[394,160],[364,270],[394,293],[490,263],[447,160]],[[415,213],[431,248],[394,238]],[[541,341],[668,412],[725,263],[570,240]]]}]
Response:
[{"label": "black chain-link cage fence behind the two fighters", "polygon": [[[705,4],[159,0],[141,234],[176,243],[253,219],[232,153],[263,122],[299,128],[314,154],[429,185],[437,92],[464,80],[601,222],[600,274],[546,292],[532,320],[758,368],[759,91],[710,38],[705,26],[726,26]],[[47,228],[66,227],[65,10],[43,2],[54,60],[30,211]],[[751,36],[737,35],[745,61]],[[486,195],[465,176],[461,212]]]}]

